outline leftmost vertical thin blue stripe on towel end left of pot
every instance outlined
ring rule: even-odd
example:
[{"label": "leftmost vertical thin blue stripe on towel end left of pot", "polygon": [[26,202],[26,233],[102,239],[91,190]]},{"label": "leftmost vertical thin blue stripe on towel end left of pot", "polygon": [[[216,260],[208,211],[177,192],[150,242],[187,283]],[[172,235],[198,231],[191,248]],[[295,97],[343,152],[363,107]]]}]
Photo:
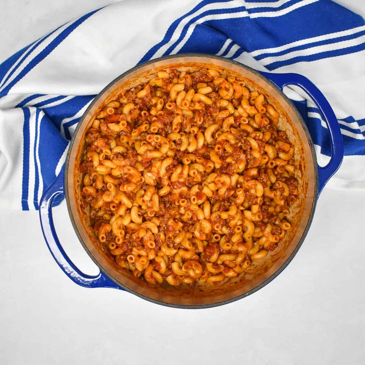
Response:
[{"label": "leftmost vertical thin blue stripe on towel end left of pot", "polygon": [[29,149],[30,149],[30,133],[29,119],[30,111],[28,108],[22,108],[24,114],[23,124],[23,179],[22,179],[22,209],[29,210],[28,206],[28,184],[29,184]]}]

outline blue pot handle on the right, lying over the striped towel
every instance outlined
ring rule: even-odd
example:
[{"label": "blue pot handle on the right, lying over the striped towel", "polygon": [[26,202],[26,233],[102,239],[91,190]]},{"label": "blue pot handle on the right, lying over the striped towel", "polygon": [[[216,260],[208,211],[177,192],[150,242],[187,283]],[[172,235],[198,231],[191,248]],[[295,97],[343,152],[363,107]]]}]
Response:
[{"label": "blue pot handle on the right, lying over the striped towel", "polygon": [[332,156],[326,166],[318,166],[318,195],[330,177],[339,169],[343,160],[343,141],[341,130],[331,105],[322,92],[308,78],[297,73],[261,72],[280,89],[287,85],[296,85],[303,89],[317,105],[330,134]]}]

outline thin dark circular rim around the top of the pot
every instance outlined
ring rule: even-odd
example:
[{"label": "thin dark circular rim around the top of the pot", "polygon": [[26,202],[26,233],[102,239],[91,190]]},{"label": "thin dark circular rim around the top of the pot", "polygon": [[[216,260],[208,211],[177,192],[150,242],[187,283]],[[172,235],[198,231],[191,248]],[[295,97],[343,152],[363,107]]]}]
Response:
[{"label": "thin dark circular rim around the top of the pot", "polygon": [[[308,144],[310,146],[310,150],[311,150],[311,153],[312,153],[312,159],[313,159],[313,165],[314,165],[314,180],[315,180],[314,181],[314,197],[313,197],[313,202],[312,202],[312,207],[311,207],[311,213],[308,217],[306,227],[304,228],[303,234],[301,235],[301,238],[299,239],[299,242],[297,243],[295,249],[289,255],[287,260],[280,266],[280,268],[278,268],[271,276],[269,276],[261,284],[257,285],[257,287],[255,287],[253,289],[250,289],[246,293],[243,293],[243,294],[235,296],[231,299],[223,300],[223,301],[220,301],[220,302],[217,302],[217,303],[196,305],[196,306],[194,306],[194,305],[183,305],[183,304],[173,304],[173,303],[167,303],[167,302],[164,302],[164,301],[161,301],[161,300],[152,299],[148,296],[142,295],[142,294],[128,288],[126,285],[120,283],[120,281],[116,280],[112,275],[110,275],[106,270],[104,270],[104,268],[99,264],[99,262],[91,254],[91,252],[89,251],[88,247],[86,246],[84,240],[82,239],[82,237],[81,237],[81,235],[78,231],[78,228],[76,226],[75,220],[73,218],[73,213],[72,213],[72,210],[71,210],[70,199],[69,199],[69,190],[68,190],[68,175],[69,175],[70,155],[71,155],[71,151],[73,149],[73,145],[74,145],[74,142],[75,142],[75,139],[76,139],[76,135],[78,134],[78,132],[80,130],[82,122],[84,121],[85,117],[88,115],[89,110],[91,110],[91,108],[97,103],[97,101],[99,101],[100,97],[108,89],[110,89],[114,84],[116,84],[116,82],[121,80],[123,77],[128,76],[128,74],[130,74],[130,73],[132,73],[132,72],[134,72],[134,71],[136,71],[136,70],[138,70],[138,69],[140,69],[144,66],[148,66],[150,64],[154,64],[155,62],[163,61],[163,60],[166,60],[166,59],[173,60],[175,58],[181,58],[181,57],[199,57],[199,58],[205,58],[207,61],[217,59],[217,60],[220,60],[220,61],[228,62],[230,64],[233,64],[235,66],[238,66],[238,67],[241,67],[241,68],[244,68],[244,69],[250,71],[251,73],[255,74],[256,76],[260,77],[262,80],[267,82],[272,88],[274,88],[283,97],[283,99],[288,103],[288,105],[291,107],[292,111],[294,112],[294,114],[298,118],[301,126],[303,127],[303,130],[304,130],[304,132],[307,136]],[[204,61],[201,60],[201,62],[204,62]],[[314,216],[314,212],[315,212],[315,208],[316,208],[316,203],[317,203],[317,200],[318,200],[318,163],[317,163],[317,157],[316,157],[316,154],[315,154],[314,145],[313,145],[313,142],[312,142],[312,139],[311,139],[311,136],[310,136],[310,133],[309,133],[309,130],[308,130],[308,127],[307,127],[306,123],[304,123],[303,118],[301,117],[299,111],[297,110],[295,105],[292,103],[292,101],[284,94],[284,92],[276,84],[274,84],[274,82],[272,82],[267,77],[262,75],[259,71],[255,70],[255,69],[253,69],[249,66],[243,65],[243,64],[241,64],[241,62],[237,62],[237,61],[234,61],[232,59],[228,59],[228,58],[224,58],[224,57],[216,56],[216,55],[204,54],[204,53],[180,53],[180,54],[168,55],[168,56],[164,56],[164,57],[151,59],[150,61],[146,61],[146,62],[143,62],[142,64],[138,64],[137,66],[134,66],[133,68],[127,70],[126,72],[122,73],[120,76],[118,76],[114,80],[112,80],[107,86],[105,86],[103,88],[103,90],[101,90],[95,96],[95,98],[89,104],[88,108],[85,110],[84,114],[81,116],[79,122],[77,123],[74,134],[73,134],[72,139],[71,139],[70,144],[69,144],[69,149],[68,149],[67,156],[66,156],[66,161],[65,161],[64,192],[65,192],[65,199],[66,199],[66,204],[67,204],[69,217],[70,217],[72,226],[74,228],[74,231],[77,235],[78,240],[80,241],[82,247],[84,247],[87,254],[91,257],[92,261],[99,268],[99,270],[105,276],[110,278],[110,280],[112,280],[116,285],[118,285],[118,287],[120,287],[121,289],[124,289],[125,291],[127,291],[129,293],[137,295],[138,297],[140,297],[142,299],[145,299],[145,300],[150,301],[152,303],[160,304],[160,305],[166,306],[166,307],[183,308],[183,309],[212,308],[212,307],[219,307],[219,306],[223,306],[224,304],[232,303],[236,300],[242,299],[244,297],[247,297],[247,296],[257,292],[258,290],[260,290],[261,288],[263,288],[267,284],[269,284],[272,280],[274,280],[274,278],[276,278],[289,265],[289,263],[293,260],[294,256],[297,254],[298,250],[300,249],[301,245],[303,244],[303,241],[307,236],[308,230],[309,230],[309,228],[311,226],[311,223],[312,223],[312,220],[313,220],[313,216]]]}]

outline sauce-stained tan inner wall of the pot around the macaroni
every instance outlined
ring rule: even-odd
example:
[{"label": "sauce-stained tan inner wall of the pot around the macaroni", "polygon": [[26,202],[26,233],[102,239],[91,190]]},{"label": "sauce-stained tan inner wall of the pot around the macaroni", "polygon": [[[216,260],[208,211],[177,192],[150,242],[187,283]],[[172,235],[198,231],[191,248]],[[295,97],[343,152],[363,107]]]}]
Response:
[{"label": "sauce-stained tan inner wall of the pot around the macaroni", "polygon": [[[119,268],[108,250],[96,239],[90,225],[89,207],[81,197],[82,174],[78,166],[85,148],[84,135],[93,118],[105,104],[124,89],[137,86],[155,76],[158,70],[177,68],[195,70],[201,67],[216,69],[245,81],[250,89],[263,93],[280,114],[280,130],[287,132],[295,148],[295,177],[299,180],[299,199],[291,207],[289,222],[291,230],[278,248],[264,259],[252,264],[246,272],[231,280],[215,284],[200,284],[195,287],[168,284],[150,285],[135,278],[131,272]],[[209,307],[227,303],[261,288],[275,277],[291,260],[303,241],[309,227],[315,206],[317,168],[313,146],[308,131],[299,113],[284,94],[259,73],[237,62],[211,56],[175,56],[144,64],[123,74],[108,85],[85,112],[76,129],[66,161],[65,190],[69,214],[80,242],[93,261],[115,283],[147,300],[169,306]]]}]

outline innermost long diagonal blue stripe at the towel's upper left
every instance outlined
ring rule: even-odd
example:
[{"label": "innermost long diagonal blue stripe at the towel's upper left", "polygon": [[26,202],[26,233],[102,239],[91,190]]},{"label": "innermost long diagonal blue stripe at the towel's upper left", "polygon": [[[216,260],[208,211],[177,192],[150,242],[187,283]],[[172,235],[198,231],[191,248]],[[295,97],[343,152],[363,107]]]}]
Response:
[{"label": "innermost long diagonal blue stripe at the towel's upper left", "polygon": [[42,61],[47,55],[49,55],[58,45],[61,43],[68,35],[71,34],[73,30],[75,30],[80,24],[82,24],[86,19],[90,18],[93,14],[95,14],[100,9],[94,10],[89,14],[81,16],[81,18],[77,19],[76,22],[70,24],[66,29],[64,29],[52,42],[49,43],[37,56],[35,56],[24,69],[0,92],[0,97],[7,95],[10,89],[21,80],[32,68],[37,66],[39,62]]}]

